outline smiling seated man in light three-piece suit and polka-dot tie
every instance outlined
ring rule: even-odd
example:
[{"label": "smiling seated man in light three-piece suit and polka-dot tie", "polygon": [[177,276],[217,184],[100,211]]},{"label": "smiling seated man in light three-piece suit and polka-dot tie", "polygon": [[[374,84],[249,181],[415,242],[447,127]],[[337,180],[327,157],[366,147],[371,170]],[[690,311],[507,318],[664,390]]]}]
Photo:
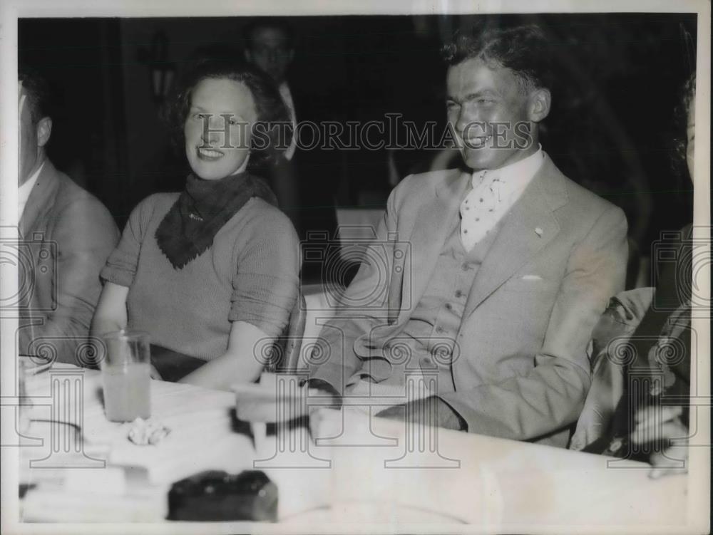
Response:
[{"label": "smiling seated man in light three-piece suit and polka-dot tie", "polygon": [[[411,175],[391,192],[322,330],[311,385],[398,403],[386,417],[436,414],[441,427],[566,445],[590,386],[593,327],[624,287],[627,224],[539,145],[546,45],[521,26],[444,48],[466,169]],[[419,375],[427,388],[406,398]]]}]

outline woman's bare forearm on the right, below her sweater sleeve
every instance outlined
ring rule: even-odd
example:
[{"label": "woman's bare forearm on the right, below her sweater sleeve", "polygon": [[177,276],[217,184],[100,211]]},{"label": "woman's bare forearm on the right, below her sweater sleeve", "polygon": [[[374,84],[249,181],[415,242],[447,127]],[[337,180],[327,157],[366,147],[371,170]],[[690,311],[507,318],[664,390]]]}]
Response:
[{"label": "woman's bare forearm on the right, below her sweater sleeve", "polygon": [[260,361],[261,348],[273,342],[274,338],[267,336],[252,323],[234,321],[230,327],[227,351],[186,375],[180,383],[215,390],[230,390],[230,385],[235,383],[252,383],[260,377],[264,366]]}]

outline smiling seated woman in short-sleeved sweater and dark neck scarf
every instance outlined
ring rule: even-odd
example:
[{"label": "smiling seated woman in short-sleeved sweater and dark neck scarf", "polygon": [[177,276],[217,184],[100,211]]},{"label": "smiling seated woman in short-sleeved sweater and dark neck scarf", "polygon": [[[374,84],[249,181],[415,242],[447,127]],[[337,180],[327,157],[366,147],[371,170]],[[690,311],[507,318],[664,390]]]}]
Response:
[{"label": "smiling seated woman in short-sleeved sweater and dark neck scarf", "polygon": [[146,331],[163,378],[227,389],[259,377],[256,348],[282,333],[297,300],[297,234],[249,172],[275,152],[272,130],[256,125],[289,115],[265,75],[225,63],[199,66],[173,115],[193,172],[183,192],[131,213],[101,272],[92,332]]}]

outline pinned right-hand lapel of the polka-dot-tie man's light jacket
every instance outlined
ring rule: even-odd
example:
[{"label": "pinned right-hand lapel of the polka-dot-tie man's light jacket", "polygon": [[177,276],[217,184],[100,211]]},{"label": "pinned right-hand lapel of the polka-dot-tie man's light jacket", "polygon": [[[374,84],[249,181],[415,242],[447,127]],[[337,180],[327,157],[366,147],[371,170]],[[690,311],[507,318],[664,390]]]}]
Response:
[{"label": "pinned right-hand lapel of the polka-dot-tie man's light jacket", "polygon": [[566,202],[560,177],[553,162],[545,156],[540,170],[506,214],[473,282],[463,319],[560,232],[553,214],[555,208]]}]

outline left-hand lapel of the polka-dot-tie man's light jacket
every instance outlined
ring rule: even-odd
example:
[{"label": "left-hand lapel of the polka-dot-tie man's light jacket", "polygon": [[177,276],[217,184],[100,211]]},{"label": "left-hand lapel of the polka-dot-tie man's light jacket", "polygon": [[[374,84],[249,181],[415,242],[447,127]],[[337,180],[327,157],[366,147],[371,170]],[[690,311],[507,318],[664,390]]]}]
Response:
[{"label": "left-hand lapel of the polka-dot-tie man's light jacket", "polygon": [[[403,303],[403,296],[409,295],[410,308],[414,308],[424,294],[438,255],[441,254],[446,234],[452,228],[453,218],[458,217],[458,210],[468,189],[469,180],[471,175],[467,172],[453,171],[441,185],[436,187],[433,201],[424,204],[416,214],[410,237],[411,280],[402,281],[401,289],[401,303]],[[399,308],[401,322],[410,311],[406,306]]]}]

